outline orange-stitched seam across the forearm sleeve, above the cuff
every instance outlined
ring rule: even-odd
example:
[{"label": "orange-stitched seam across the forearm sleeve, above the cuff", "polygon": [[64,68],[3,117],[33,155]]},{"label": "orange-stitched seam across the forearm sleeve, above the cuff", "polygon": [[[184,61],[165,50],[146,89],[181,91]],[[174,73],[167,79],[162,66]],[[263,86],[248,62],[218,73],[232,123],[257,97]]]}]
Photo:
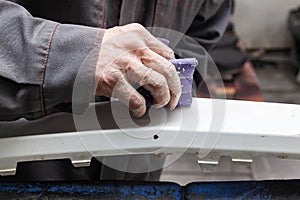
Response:
[{"label": "orange-stitched seam across the forearm sleeve, above the cuff", "polygon": [[41,71],[41,76],[40,76],[40,109],[41,109],[42,117],[45,117],[43,85],[44,85],[44,80],[45,80],[46,65],[47,65],[47,61],[48,61],[48,57],[49,57],[49,50],[50,50],[52,38],[53,38],[54,32],[57,29],[58,25],[59,24],[56,23],[50,33],[50,36],[48,39],[48,44],[47,44],[47,49],[46,49],[46,53],[45,53],[45,57],[44,57],[43,67],[42,67],[42,71]]}]

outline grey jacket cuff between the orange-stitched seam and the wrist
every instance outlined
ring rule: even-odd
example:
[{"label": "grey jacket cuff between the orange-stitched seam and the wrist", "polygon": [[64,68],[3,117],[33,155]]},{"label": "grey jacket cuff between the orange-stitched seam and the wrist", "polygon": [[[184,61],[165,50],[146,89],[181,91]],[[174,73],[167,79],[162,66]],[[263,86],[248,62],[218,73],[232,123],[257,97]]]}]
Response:
[{"label": "grey jacket cuff between the orange-stitched seam and the wrist", "polygon": [[58,25],[51,40],[43,83],[44,113],[70,102],[82,112],[92,101],[95,68],[104,30]]}]

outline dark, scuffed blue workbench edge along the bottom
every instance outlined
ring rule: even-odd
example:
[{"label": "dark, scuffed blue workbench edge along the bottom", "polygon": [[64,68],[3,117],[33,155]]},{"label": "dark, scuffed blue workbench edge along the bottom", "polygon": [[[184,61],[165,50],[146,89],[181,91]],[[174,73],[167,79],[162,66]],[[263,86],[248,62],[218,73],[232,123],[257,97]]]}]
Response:
[{"label": "dark, scuffed blue workbench edge along the bottom", "polygon": [[175,183],[0,183],[9,199],[300,199],[300,180]]}]

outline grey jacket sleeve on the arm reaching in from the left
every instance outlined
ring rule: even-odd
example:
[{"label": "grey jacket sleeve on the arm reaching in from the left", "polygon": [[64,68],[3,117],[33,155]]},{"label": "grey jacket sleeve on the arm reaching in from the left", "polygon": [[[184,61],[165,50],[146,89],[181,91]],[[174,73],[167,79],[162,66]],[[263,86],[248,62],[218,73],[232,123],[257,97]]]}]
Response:
[{"label": "grey jacket sleeve on the arm reaching in from the left", "polygon": [[[0,120],[41,118],[64,103],[87,107],[104,30],[34,18],[3,0],[0,27]],[[75,83],[81,95],[72,101]]]}]

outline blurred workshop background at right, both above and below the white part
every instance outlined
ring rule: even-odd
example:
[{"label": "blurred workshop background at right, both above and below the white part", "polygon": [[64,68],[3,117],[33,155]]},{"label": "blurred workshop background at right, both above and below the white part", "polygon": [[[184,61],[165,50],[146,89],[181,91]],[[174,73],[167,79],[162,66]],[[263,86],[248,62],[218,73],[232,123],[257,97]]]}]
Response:
[{"label": "blurred workshop background at right, both above and below the white part", "polygon": [[[225,90],[208,74],[198,97],[300,104],[300,0],[236,0],[227,30],[210,55]],[[195,156],[185,155],[164,169],[161,180],[299,179],[299,169],[298,160],[221,157],[217,163],[197,163]]]}]

